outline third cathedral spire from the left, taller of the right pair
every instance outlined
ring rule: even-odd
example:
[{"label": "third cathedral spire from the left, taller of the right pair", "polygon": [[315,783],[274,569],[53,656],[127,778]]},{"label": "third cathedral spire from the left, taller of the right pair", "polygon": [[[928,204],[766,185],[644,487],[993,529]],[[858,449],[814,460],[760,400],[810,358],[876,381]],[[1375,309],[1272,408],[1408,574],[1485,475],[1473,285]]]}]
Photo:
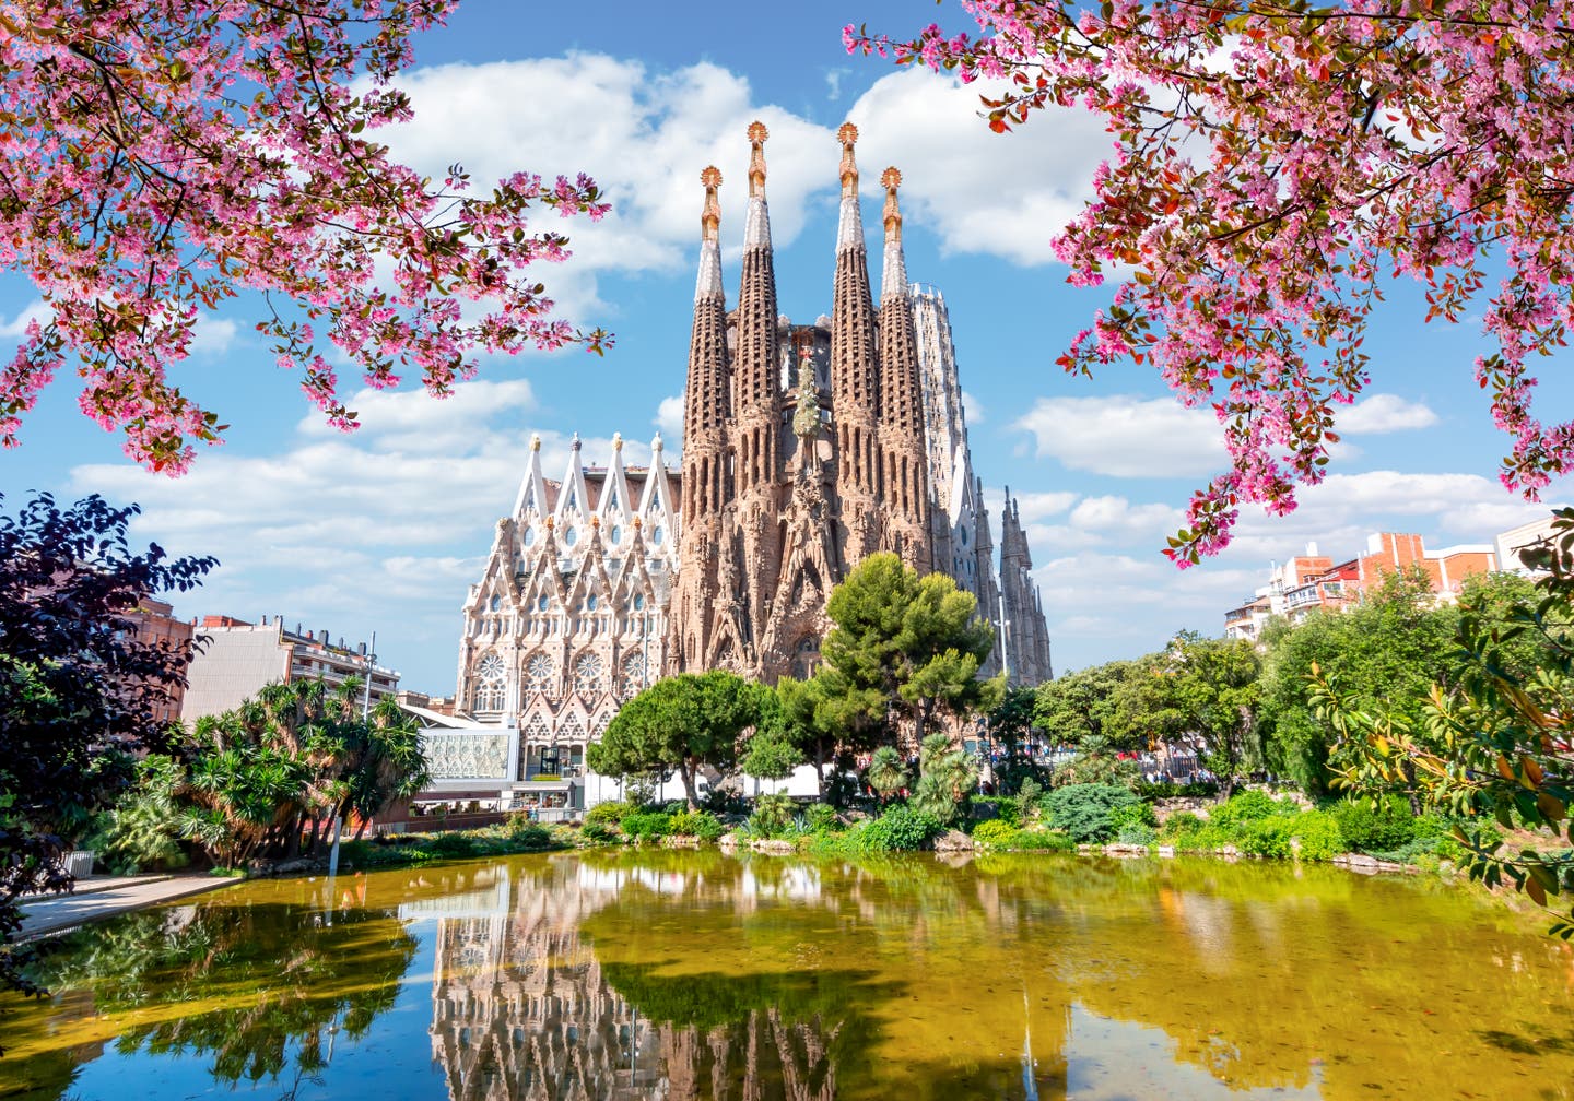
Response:
[{"label": "third cathedral spire from the left, taller of the right pair", "polygon": [[880,549],[877,510],[880,374],[875,308],[869,289],[864,219],[858,209],[858,127],[842,123],[842,211],[836,228],[836,288],[831,304],[831,407],[836,422],[836,499],[841,503],[847,562]]}]

